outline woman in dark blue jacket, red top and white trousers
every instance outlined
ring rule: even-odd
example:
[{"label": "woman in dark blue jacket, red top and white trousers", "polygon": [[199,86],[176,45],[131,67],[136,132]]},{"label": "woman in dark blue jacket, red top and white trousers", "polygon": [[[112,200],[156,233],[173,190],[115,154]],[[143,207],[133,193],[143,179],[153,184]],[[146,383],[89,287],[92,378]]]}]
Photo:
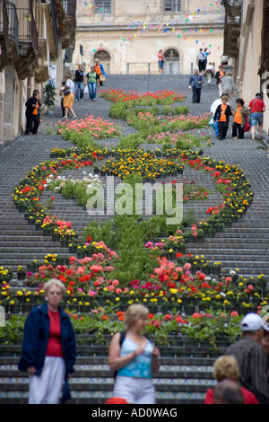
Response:
[{"label": "woman in dark blue jacket, red top and white trousers", "polygon": [[75,338],[69,316],[59,307],[64,284],[52,278],[46,302],[35,306],[25,321],[19,370],[29,374],[29,404],[57,404],[70,398],[68,377],[74,372]]}]

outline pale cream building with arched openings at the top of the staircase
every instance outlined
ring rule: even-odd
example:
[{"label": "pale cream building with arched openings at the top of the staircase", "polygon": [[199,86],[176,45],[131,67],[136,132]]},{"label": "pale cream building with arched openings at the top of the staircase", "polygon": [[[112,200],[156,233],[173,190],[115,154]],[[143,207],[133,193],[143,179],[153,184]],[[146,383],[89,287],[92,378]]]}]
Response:
[{"label": "pale cream building with arched openings at the top of the staircase", "polygon": [[[86,70],[96,57],[111,74],[189,74],[199,48],[221,64],[224,8],[201,0],[92,0],[77,5],[74,65]],[[82,46],[83,56],[80,54]]]}]

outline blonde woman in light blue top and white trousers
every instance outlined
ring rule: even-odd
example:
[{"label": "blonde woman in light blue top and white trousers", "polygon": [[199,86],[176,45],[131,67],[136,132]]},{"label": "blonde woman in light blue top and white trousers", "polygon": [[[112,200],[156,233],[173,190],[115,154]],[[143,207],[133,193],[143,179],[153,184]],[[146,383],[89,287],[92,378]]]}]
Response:
[{"label": "blonde woman in light blue top and white trousers", "polygon": [[139,303],[126,310],[124,338],[117,333],[112,338],[108,364],[117,371],[113,397],[131,404],[154,404],[152,374],[159,371],[160,351],[143,335],[149,310]]}]

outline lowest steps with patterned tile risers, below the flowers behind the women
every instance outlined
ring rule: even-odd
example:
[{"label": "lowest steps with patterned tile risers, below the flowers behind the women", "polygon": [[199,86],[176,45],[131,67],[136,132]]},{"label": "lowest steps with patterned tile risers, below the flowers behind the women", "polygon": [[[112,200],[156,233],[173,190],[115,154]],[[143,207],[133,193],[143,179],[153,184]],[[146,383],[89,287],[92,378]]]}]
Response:
[{"label": "lowest steps with patterned tile risers, below the flowers behind the women", "polygon": [[[208,347],[160,347],[161,368],[153,378],[156,404],[203,404],[211,388],[213,361],[223,353]],[[22,346],[0,346],[0,404],[28,402],[28,375],[17,369]],[[102,404],[113,391],[114,374],[108,367],[108,347],[78,346],[68,404]]]}]

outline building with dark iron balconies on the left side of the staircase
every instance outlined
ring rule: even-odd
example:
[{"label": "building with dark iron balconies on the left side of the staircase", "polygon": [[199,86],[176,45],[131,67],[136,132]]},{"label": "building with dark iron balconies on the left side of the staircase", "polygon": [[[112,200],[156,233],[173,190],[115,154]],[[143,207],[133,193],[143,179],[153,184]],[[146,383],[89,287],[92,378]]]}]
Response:
[{"label": "building with dark iron balconies on the left side of the staircase", "polygon": [[76,0],[0,0],[0,143],[25,128],[25,101],[55,70],[60,86],[66,48],[74,49]]}]

